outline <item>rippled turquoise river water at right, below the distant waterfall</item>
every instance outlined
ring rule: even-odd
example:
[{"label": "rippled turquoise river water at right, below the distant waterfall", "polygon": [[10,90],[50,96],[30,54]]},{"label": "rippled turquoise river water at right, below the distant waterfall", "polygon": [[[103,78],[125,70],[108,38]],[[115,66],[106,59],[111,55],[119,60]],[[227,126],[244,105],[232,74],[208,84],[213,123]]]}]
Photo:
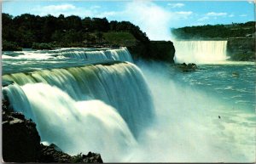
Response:
[{"label": "rippled turquoise river water at right, below the distant waterfall", "polygon": [[179,80],[193,88],[205,90],[232,106],[232,110],[255,112],[256,65],[199,65],[199,70],[184,73]]}]

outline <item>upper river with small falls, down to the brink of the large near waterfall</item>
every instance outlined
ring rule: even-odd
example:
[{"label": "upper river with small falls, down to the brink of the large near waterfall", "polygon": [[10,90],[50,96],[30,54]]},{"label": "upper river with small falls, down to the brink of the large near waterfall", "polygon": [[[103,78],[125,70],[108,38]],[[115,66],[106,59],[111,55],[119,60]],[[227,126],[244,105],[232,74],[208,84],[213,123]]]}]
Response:
[{"label": "upper river with small falls, down to the brink of the large near waterfall", "polygon": [[116,61],[133,63],[127,48],[60,48],[48,51],[3,52],[2,59],[3,74]]}]

